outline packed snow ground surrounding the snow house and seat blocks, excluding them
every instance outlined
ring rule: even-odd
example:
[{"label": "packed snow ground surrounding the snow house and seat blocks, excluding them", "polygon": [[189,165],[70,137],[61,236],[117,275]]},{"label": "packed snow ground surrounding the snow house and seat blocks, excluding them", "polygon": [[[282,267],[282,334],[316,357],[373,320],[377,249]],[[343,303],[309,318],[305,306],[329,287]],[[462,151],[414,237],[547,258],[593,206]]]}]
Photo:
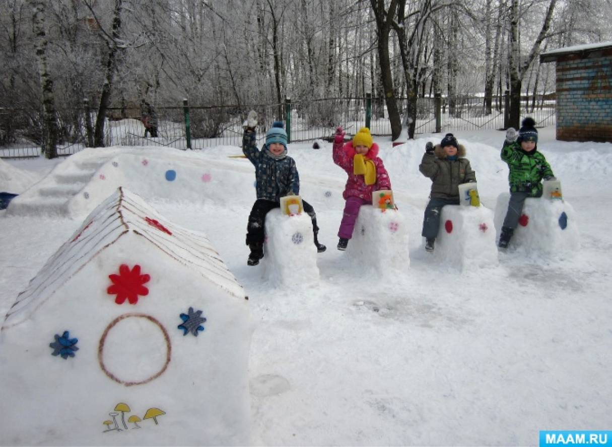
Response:
[{"label": "packed snow ground surrounding the snow house and seat blocks, excluding them", "polygon": [[[492,209],[507,191],[507,167],[499,159],[504,134],[457,137],[476,170],[480,198]],[[240,148],[193,155],[216,170],[202,202],[192,194],[146,198],[175,224],[207,234],[247,291],[255,321],[253,444],[534,445],[540,430],[609,428],[612,144],[556,142],[554,128],[540,129],[539,148],[578,216],[577,253],[561,259],[509,250],[498,266],[460,271],[433,262],[420,238],[431,183],[418,164],[425,142],[440,138],[395,148],[377,140],[409,225],[410,266],[393,280],[355,274],[348,252],[335,249],[346,175],[333,164],[330,144],[319,150],[289,145],[302,197],[315,206],[319,239],[328,247],[318,255],[315,287],[300,286],[295,272],[294,286],[275,288],[262,281],[262,266],[247,266],[253,170],[244,159],[227,158]],[[0,191],[24,192],[12,169],[42,178],[59,162],[5,161]],[[126,175],[135,184],[145,181],[136,171]],[[186,187],[197,191],[201,180]],[[0,211],[0,313],[82,223]],[[0,345],[4,360],[10,351]],[[69,431],[63,441],[70,443]],[[1,435],[0,443],[7,443]]]}]

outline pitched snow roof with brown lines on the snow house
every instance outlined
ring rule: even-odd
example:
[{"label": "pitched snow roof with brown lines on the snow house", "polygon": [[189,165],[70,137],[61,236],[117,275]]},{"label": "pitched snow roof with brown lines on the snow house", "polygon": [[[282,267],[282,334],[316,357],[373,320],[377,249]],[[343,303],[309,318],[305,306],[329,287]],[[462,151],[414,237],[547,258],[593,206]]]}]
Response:
[{"label": "pitched snow roof with brown lines on the snow house", "polygon": [[19,294],[6,314],[2,329],[28,318],[56,289],[124,236],[140,236],[185,267],[200,273],[233,296],[244,288],[228,270],[209,240],[172,224],[136,194],[119,187],[84,220],[83,225],[51,256]]}]

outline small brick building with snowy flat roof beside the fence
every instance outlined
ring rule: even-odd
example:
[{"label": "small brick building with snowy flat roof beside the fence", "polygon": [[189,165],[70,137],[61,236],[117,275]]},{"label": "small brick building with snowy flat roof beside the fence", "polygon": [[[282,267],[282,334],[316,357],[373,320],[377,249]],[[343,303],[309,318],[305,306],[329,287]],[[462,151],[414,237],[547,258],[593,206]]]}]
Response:
[{"label": "small brick building with snowy flat roof beside the fence", "polygon": [[612,142],[612,42],[547,51],[546,62],[557,64],[557,139]]}]

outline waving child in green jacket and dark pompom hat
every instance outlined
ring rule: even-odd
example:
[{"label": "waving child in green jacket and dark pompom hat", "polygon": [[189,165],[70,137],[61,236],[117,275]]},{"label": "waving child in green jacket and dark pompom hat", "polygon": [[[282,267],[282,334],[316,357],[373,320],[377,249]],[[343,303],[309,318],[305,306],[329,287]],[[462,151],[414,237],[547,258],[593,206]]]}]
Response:
[{"label": "waving child in green jacket and dark pompom hat", "polygon": [[508,164],[510,173],[510,202],[501,227],[498,247],[507,249],[523,205],[528,197],[542,196],[542,179],[556,180],[545,156],[537,150],[537,129],[533,118],[525,118],[517,131],[509,128],[501,150],[501,159]]}]

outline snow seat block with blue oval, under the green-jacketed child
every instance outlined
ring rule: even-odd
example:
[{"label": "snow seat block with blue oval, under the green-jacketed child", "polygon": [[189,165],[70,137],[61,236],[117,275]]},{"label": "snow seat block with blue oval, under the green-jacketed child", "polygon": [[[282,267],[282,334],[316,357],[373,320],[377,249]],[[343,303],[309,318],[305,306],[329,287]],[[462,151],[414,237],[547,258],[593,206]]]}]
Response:
[{"label": "snow seat block with blue oval, under the green-jacketed child", "polygon": [[[497,239],[508,210],[510,193],[499,194],[495,206]],[[557,255],[573,253],[580,247],[576,214],[567,200],[527,198],[509,249]]]}]

